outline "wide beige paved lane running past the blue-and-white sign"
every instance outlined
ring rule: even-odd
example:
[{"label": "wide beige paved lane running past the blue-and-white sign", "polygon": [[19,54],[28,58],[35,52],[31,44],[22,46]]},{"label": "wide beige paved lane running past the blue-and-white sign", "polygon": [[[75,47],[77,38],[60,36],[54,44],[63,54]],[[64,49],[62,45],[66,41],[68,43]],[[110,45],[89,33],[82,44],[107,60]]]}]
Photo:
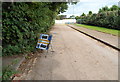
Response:
[{"label": "wide beige paved lane running past the blue-and-white sign", "polygon": [[64,24],[54,25],[50,33],[52,48],[14,80],[118,80],[117,50]]}]

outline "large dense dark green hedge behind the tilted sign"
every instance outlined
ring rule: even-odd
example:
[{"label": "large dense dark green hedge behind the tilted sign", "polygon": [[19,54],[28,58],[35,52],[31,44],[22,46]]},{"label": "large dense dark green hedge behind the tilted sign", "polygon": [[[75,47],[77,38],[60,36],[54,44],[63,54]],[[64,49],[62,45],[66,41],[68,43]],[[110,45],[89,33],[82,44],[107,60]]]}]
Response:
[{"label": "large dense dark green hedge behind the tilted sign", "polygon": [[2,3],[2,55],[31,52],[38,35],[54,24],[58,9],[65,3]]}]

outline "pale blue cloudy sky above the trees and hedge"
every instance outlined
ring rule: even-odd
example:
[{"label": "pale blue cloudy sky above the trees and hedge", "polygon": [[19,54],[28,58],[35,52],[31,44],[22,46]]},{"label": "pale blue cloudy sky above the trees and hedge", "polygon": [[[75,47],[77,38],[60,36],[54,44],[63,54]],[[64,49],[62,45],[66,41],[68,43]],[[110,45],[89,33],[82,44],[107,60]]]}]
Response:
[{"label": "pale blue cloudy sky above the trees and hedge", "polygon": [[60,15],[80,16],[82,13],[88,14],[89,11],[97,13],[98,10],[104,6],[111,7],[112,5],[118,5],[120,0],[80,0],[76,5],[68,5],[68,10]]}]

